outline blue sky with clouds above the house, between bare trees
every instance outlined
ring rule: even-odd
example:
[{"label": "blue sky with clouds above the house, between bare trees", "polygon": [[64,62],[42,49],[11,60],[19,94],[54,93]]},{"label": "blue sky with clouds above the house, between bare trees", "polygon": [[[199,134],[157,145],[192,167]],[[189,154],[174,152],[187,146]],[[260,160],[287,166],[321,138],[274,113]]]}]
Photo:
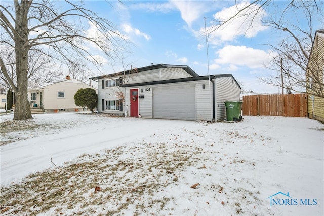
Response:
[{"label": "blue sky with clouds above the house, between bare trees", "polygon": [[[124,67],[150,64],[188,65],[199,75],[208,75],[205,37],[215,17],[235,13],[233,1],[85,1],[87,8],[113,22],[118,31],[132,42],[132,53],[125,54]],[[276,1],[280,4],[280,1]],[[281,1],[282,4],[287,2]],[[271,12],[270,7],[268,12]],[[273,9],[273,12],[275,9]],[[208,35],[209,73],[232,74],[245,90],[278,93],[281,89],[263,84],[257,77],[267,77],[263,65],[270,58],[270,47],[280,35],[262,24],[266,12],[254,18],[253,29],[242,20]],[[277,16],[272,13],[271,16]],[[292,16],[291,19],[295,19]],[[292,21],[292,20],[291,20]],[[318,22],[316,30],[323,28]],[[109,74],[123,70],[120,62],[106,65]]]}]

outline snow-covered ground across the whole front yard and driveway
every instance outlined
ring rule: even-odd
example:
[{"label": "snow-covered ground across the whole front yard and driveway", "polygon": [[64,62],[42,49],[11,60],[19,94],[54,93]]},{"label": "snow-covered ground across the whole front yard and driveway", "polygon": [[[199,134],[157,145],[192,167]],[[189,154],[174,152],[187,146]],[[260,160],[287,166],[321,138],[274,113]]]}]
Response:
[{"label": "snow-covered ground across the whole front yard and driveway", "polygon": [[3,215],[324,214],[315,120],[33,117],[0,115]]}]

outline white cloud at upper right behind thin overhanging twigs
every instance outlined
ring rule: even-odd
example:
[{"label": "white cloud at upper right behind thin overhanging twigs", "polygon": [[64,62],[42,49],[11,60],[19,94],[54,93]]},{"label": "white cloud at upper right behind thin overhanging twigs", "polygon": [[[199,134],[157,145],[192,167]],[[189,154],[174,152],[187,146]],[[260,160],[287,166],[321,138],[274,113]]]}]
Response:
[{"label": "white cloud at upper right behind thin overhanging twigs", "polygon": [[[217,12],[213,15],[215,20],[218,20],[220,23],[224,23],[227,19],[233,17],[239,9],[242,9],[250,3],[240,3],[237,6],[231,6],[229,8],[224,8],[222,11]],[[256,12],[259,5],[252,5],[252,7],[244,11],[245,16],[240,15],[236,16],[234,19],[229,21],[224,26],[213,31],[215,25],[208,27],[207,32],[209,33],[209,43],[211,44],[220,44],[223,41],[233,41],[239,36],[245,36],[247,38],[255,37],[259,31],[266,30],[268,27],[262,25],[262,18],[267,15],[267,13],[260,9]],[[248,15],[251,13],[250,15]],[[205,32],[205,28],[200,28],[201,32]]]}]

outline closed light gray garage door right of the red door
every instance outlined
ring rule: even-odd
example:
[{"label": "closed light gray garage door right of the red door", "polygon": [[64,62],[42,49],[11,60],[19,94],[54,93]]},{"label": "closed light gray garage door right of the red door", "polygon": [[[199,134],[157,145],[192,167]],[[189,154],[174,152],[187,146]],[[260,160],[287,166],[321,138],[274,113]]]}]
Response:
[{"label": "closed light gray garage door right of the red door", "polygon": [[153,118],[196,120],[195,87],[153,89]]}]

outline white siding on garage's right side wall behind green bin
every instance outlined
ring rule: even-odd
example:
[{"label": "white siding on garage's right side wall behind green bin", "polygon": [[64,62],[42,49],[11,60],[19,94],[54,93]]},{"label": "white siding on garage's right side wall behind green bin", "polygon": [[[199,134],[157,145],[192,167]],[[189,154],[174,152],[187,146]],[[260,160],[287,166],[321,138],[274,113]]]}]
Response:
[{"label": "white siding on garage's right side wall behind green bin", "polygon": [[225,101],[240,101],[240,88],[232,77],[215,79],[216,120],[226,118]]}]

